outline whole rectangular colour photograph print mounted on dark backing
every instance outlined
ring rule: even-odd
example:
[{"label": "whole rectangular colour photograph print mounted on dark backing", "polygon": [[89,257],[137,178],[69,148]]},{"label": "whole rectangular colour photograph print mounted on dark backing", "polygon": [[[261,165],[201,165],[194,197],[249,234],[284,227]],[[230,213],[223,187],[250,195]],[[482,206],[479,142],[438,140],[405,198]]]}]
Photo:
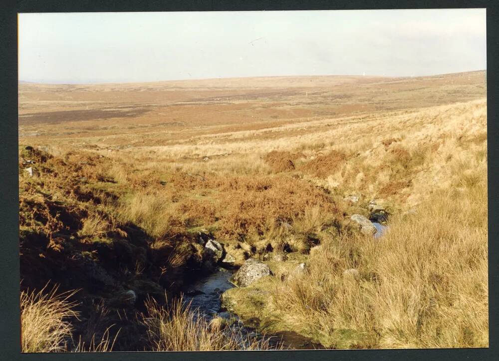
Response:
[{"label": "whole rectangular colour photograph print mounted on dark backing", "polygon": [[21,353],[489,348],[485,8],[17,25]]}]

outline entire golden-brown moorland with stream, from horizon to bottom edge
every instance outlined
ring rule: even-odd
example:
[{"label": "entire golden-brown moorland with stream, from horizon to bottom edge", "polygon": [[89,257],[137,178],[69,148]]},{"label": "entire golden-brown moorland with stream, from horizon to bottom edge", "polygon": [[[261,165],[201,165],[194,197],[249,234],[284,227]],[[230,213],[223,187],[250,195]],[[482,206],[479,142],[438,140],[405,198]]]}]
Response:
[{"label": "entire golden-brown moorland with stream, from horizon to bottom edge", "polygon": [[22,350],[488,347],[486,93],[20,83]]}]

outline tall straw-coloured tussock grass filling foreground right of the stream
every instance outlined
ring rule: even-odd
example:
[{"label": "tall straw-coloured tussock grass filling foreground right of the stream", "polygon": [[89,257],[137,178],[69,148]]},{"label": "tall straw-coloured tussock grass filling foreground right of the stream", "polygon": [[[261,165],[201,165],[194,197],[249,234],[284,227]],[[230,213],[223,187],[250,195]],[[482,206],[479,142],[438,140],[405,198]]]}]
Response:
[{"label": "tall straw-coloured tussock grass filling foreground right of the stream", "polygon": [[[485,181],[439,191],[378,240],[324,239],[309,273],[278,285],[268,307],[334,347],[487,347]],[[349,268],[360,281],[343,277]]]}]

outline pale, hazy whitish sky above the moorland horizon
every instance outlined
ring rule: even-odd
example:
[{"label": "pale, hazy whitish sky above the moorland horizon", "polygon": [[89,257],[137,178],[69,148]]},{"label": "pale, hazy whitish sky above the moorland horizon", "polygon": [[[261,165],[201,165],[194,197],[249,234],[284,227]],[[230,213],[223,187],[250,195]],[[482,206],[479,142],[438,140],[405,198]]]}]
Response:
[{"label": "pale, hazy whitish sky above the moorland horizon", "polygon": [[143,82],[486,69],[486,9],[20,13],[19,80]]}]

